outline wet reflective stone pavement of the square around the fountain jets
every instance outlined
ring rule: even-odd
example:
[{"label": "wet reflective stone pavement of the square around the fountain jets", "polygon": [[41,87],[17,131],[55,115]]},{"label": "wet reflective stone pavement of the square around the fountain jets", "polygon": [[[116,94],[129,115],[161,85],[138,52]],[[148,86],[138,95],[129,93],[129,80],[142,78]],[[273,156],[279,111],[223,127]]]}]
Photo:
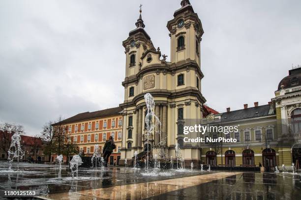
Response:
[{"label": "wet reflective stone pavement of the square around the fountain jets", "polygon": [[[67,166],[20,163],[23,172],[3,172],[0,191],[30,190],[31,199],[301,200],[301,174],[156,171],[110,167],[80,168],[71,179]],[[13,165],[15,168],[16,165]]]}]

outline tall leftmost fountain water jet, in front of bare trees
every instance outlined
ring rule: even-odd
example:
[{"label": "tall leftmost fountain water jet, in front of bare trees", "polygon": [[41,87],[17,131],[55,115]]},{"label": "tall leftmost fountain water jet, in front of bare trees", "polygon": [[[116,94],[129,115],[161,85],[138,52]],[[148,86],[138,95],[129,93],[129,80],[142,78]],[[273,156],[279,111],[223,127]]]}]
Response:
[{"label": "tall leftmost fountain water jet, in front of bare trees", "polygon": [[9,160],[9,167],[8,170],[12,171],[11,165],[14,160],[14,158],[17,158],[18,165],[17,165],[17,171],[19,171],[19,160],[24,156],[24,151],[21,149],[21,135],[19,131],[15,131],[15,133],[11,136],[11,144],[8,149],[8,160]]}]

